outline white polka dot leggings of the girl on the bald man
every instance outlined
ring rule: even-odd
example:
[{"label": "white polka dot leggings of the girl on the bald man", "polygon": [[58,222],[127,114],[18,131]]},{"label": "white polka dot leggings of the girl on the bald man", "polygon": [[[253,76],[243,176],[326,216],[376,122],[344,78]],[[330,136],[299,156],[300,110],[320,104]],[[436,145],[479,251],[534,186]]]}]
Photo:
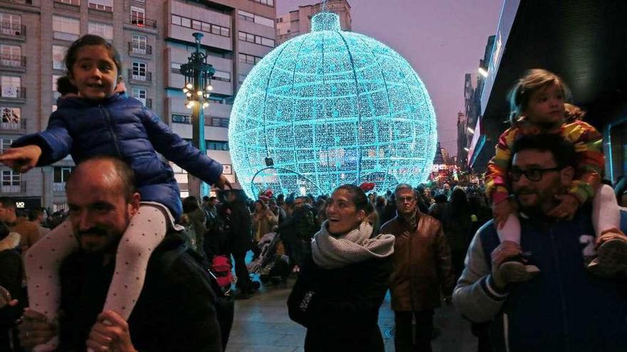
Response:
[{"label": "white polka dot leggings of the girl on the bald man", "polygon": [[[128,320],[142,291],[148,259],[152,250],[165,237],[167,218],[165,210],[143,204],[130,219],[115,257],[115,272],[103,310],[113,310]],[[78,242],[73,235],[70,220],[54,228],[33,245],[24,258],[28,283],[28,301],[31,309],[56,320],[61,300],[58,270],[61,262],[76,250]],[[34,352],[54,351],[58,338],[33,348]]]}]

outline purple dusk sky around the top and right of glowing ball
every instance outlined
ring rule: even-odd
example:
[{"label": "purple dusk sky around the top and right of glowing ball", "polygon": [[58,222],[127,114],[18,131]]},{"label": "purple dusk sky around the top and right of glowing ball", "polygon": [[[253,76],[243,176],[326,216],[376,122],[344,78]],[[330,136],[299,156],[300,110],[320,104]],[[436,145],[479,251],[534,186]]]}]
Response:
[{"label": "purple dusk sky around the top and right of glowing ball", "polygon": [[[275,0],[276,15],[319,0]],[[403,55],[427,86],[438,140],[457,154],[457,112],[464,75],[476,73],[487,37],[497,31],[502,0],[348,0],[353,31]],[[505,99],[503,97],[503,99]]]}]

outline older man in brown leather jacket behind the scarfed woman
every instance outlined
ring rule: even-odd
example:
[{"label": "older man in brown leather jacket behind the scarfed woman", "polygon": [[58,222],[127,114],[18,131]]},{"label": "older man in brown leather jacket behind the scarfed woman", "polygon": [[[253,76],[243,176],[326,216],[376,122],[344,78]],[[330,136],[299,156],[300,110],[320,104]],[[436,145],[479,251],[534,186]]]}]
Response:
[{"label": "older man in brown leather jacket behind the scarfed woman", "polygon": [[[395,351],[431,351],[433,309],[440,306],[440,289],[450,302],[455,287],[450,249],[440,221],[420,213],[413,188],[395,190],[397,215],[381,233],[395,235],[394,271],[390,275],[395,315]],[[412,318],[415,317],[415,342]]]}]

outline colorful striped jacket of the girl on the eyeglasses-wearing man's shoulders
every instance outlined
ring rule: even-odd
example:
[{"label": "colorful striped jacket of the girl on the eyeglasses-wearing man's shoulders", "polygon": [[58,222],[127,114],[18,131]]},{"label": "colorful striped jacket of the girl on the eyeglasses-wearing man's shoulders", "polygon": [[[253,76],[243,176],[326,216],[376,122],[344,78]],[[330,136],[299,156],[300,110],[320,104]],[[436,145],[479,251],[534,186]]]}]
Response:
[{"label": "colorful striped jacket of the girl on the eyeglasses-wearing man's shoulders", "polygon": [[[512,159],[511,151],[516,139],[541,132],[546,133],[546,131],[541,131],[539,127],[522,120],[501,134],[496,146],[496,154],[488,163],[485,174],[485,191],[492,203],[504,201],[509,196],[507,169]],[[603,177],[605,160],[603,159],[601,134],[590,124],[579,119],[566,122],[559,129],[550,132],[561,134],[566,141],[575,146],[577,167],[569,193],[576,196],[579,202],[583,204],[594,197],[596,188],[598,188]]]}]

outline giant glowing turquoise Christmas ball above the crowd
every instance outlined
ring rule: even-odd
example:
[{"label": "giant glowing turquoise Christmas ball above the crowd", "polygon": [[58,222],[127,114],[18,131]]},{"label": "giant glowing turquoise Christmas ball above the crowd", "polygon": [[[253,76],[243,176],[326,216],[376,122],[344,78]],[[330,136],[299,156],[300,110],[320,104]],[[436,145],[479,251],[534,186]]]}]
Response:
[{"label": "giant glowing turquoise Christmas ball above the crowd", "polygon": [[244,191],[321,194],[371,181],[384,192],[425,181],[435,112],[413,68],[341,31],[336,14],[316,14],[311,27],[257,63],[235,98],[229,145]]}]

